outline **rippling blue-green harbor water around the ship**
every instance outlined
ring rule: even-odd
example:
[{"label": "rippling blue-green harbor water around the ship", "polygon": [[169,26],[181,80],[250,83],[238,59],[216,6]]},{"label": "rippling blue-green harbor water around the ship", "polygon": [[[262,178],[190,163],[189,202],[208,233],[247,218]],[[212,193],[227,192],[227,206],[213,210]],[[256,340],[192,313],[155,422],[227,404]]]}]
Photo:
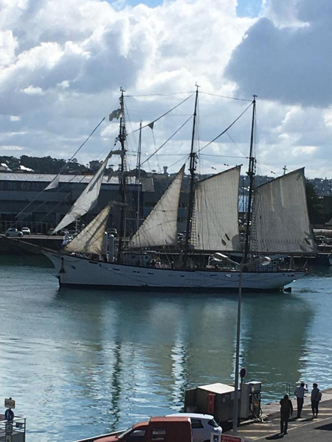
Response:
[{"label": "rippling blue-green harbor water around the ship", "polygon": [[[0,396],[28,442],[126,428],[180,411],[184,390],[234,382],[236,294],[59,289],[39,256],[0,256]],[[287,385],[332,387],[332,273],[292,293],[244,294],[241,366],[263,401]],[[0,409],[0,413],[4,409]]]}]

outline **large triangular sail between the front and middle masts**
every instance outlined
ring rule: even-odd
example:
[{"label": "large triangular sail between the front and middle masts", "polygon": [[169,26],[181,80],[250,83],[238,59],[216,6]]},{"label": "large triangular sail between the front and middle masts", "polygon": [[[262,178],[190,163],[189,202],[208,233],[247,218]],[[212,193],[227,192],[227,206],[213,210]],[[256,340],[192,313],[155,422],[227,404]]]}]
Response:
[{"label": "large triangular sail between the front and middle masts", "polygon": [[183,173],[184,165],[131,238],[129,247],[175,246],[177,244],[178,206]]}]

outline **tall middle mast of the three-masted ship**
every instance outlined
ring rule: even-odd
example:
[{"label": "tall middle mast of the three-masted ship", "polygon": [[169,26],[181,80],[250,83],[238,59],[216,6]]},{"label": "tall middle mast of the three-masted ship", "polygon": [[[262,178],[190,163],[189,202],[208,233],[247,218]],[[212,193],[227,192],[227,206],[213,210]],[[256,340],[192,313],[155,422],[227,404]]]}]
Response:
[{"label": "tall middle mast of the three-masted ship", "polygon": [[189,252],[189,240],[191,236],[192,227],[192,214],[194,209],[194,179],[196,171],[196,153],[194,151],[194,141],[195,141],[195,128],[196,128],[196,115],[197,115],[197,102],[198,102],[198,84],[196,83],[196,97],[195,97],[195,109],[194,109],[194,120],[192,124],[192,136],[191,136],[191,149],[190,149],[190,187],[189,187],[189,201],[188,201],[188,212],[187,212],[187,225],[185,229],[185,243],[184,243],[184,254],[183,254],[183,266],[185,267],[188,259]]}]

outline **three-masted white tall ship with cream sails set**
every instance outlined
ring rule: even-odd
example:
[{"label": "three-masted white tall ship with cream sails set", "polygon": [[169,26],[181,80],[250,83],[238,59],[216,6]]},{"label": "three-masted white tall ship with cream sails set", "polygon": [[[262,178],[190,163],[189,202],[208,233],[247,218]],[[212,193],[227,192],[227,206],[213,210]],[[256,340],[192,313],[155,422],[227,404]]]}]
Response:
[{"label": "three-masted white tall ship with cream sails set", "polygon": [[[120,119],[119,136],[115,143],[115,146],[120,144],[119,149],[107,155],[53,233],[80,219],[95,206],[112,155],[121,158],[120,201],[110,201],[60,251],[43,249],[55,266],[60,286],[219,292],[237,290],[241,283],[246,291],[279,291],[305,275],[304,269],[294,268],[292,259],[287,265],[282,262],[283,255],[315,252],[306,205],[304,169],[284,174],[255,188],[254,96],[250,104],[252,119],[246,221],[244,232],[240,235],[238,202],[241,166],[197,180],[200,150],[195,142],[198,95],[197,87],[188,155],[190,174],[184,241],[179,244],[177,221],[185,164],[141,224],[137,216],[136,231],[131,234],[126,231],[130,202],[126,197],[127,133],[121,91],[119,109],[110,114],[110,120]],[[153,122],[147,126],[151,125]],[[142,124],[139,142],[141,130]],[[139,157],[138,179],[140,166]],[[105,235],[111,208],[120,213],[118,238],[107,238]],[[240,262],[236,262],[233,256],[240,256]]]}]

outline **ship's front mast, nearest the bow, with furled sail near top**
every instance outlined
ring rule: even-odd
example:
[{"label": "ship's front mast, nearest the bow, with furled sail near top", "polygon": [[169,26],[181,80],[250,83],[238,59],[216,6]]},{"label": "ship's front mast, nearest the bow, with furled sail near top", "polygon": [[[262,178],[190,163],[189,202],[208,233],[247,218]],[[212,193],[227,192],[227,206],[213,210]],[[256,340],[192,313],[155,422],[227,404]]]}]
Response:
[{"label": "ship's front mast, nearest the bow, with furled sail near top", "polygon": [[121,196],[121,213],[120,213],[120,230],[119,230],[119,244],[118,244],[118,256],[117,262],[121,263],[122,259],[122,248],[123,248],[123,238],[125,237],[125,221],[126,221],[126,160],[125,160],[125,123],[124,123],[124,103],[123,103],[123,92],[122,87],[121,97],[120,97],[120,107],[121,107],[121,117],[120,117],[120,133],[119,141],[121,144],[121,180],[119,193]]}]

